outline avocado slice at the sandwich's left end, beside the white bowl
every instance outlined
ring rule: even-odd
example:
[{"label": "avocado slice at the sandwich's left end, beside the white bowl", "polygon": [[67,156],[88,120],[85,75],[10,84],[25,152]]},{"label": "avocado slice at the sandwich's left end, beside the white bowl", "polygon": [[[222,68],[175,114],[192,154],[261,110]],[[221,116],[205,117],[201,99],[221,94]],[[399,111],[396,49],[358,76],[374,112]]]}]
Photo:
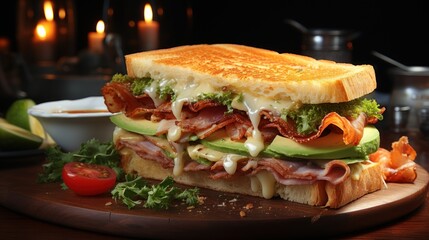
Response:
[{"label": "avocado slice at the sandwich's left end, beside the white bowl", "polygon": [[139,133],[142,135],[155,135],[158,129],[158,123],[151,122],[149,120],[135,120],[126,117],[124,114],[116,114],[110,117],[116,126],[125,129],[130,132]]}]

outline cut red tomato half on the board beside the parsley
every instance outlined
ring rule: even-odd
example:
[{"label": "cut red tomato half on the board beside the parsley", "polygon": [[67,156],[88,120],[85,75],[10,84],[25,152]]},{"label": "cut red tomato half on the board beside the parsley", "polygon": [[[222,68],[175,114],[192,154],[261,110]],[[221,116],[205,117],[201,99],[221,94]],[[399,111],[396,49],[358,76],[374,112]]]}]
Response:
[{"label": "cut red tomato half on the board beside the parsley", "polygon": [[82,196],[105,193],[111,190],[116,183],[116,173],[113,169],[81,162],[65,164],[62,177],[68,188]]}]

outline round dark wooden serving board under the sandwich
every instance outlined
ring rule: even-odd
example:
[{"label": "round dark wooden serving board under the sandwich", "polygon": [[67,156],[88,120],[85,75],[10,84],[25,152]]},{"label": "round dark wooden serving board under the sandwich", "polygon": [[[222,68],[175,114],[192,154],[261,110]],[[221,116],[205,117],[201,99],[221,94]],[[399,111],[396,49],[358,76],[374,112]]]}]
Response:
[{"label": "round dark wooden serving board under the sandwich", "polygon": [[195,208],[179,204],[168,210],[129,210],[109,194],[80,197],[59,184],[39,184],[41,164],[33,163],[0,169],[0,204],[55,224],[125,237],[329,237],[377,226],[422,205],[429,175],[421,166],[417,171],[414,184],[389,183],[387,189],[337,210],[204,189],[205,203]]}]

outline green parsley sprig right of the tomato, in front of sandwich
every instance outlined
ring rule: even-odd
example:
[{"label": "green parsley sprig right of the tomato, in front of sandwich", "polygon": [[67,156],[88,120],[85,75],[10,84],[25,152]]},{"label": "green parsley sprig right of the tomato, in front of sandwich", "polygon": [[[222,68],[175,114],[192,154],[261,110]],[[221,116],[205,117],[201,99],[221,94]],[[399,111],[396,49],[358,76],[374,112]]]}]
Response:
[{"label": "green parsley sprig right of the tomato, in front of sandwich", "polygon": [[142,177],[127,175],[125,182],[116,184],[111,191],[113,199],[124,203],[128,209],[142,204],[145,208],[168,209],[175,200],[195,206],[199,203],[199,189],[182,190],[174,186],[174,179],[169,176],[159,184],[148,185]]}]

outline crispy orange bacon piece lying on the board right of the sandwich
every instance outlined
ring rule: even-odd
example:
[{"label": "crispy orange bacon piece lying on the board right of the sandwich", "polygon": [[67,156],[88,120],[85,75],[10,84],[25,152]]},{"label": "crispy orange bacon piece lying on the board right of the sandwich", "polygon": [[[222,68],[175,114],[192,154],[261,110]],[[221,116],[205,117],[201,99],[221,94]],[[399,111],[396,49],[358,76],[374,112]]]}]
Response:
[{"label": "crispy orange bacon piece lying on the board right of the sandwich", "polygon": [[409,144],[408,137],[402,136],[392,143],[391,151],[379,148],[369,158],[381,164],[386,182],[412,183],[417,178],[414,162],[416,156],[417,153]]}]

